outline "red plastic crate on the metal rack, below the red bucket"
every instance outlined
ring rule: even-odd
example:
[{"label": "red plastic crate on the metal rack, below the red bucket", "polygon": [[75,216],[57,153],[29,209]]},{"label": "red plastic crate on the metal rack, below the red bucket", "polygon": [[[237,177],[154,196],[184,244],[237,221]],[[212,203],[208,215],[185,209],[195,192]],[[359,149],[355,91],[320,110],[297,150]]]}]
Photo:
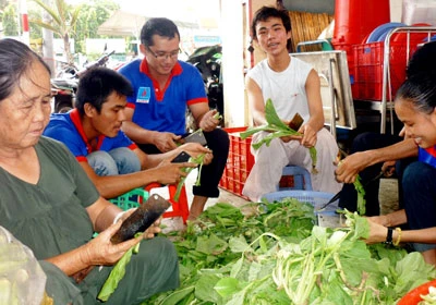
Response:
[{"label": "red plastic crate on the metal rack, below the red bucket", "polygon": [[[417,48],[420,40],[411,40],[409,58]],[[408,50],[405,41],[391,41],[389,50],[389,81],[387,83],[387,100],[393,100],[398,88],[405,80]],[[353,45],[354,56],[354,85],[353,99],[382,100],[383,98],[383,68],[385,42],[370,42]]]}]

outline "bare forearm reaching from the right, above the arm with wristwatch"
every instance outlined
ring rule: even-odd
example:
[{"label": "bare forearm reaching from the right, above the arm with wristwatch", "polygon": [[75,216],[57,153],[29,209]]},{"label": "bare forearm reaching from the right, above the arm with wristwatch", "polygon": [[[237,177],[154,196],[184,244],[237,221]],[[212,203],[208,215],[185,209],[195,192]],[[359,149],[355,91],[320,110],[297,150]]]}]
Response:
[{"label": "bare forearm reaching from the right, above the arm with wristwatch", "polygon": [[353,183],[355,175],[367,167],[413,156],[417,156],[417,146],[412,138],[405,138],[384,148],[354,152],[343,159],[340,167],[336,169],[336,179],[341,182]]}]

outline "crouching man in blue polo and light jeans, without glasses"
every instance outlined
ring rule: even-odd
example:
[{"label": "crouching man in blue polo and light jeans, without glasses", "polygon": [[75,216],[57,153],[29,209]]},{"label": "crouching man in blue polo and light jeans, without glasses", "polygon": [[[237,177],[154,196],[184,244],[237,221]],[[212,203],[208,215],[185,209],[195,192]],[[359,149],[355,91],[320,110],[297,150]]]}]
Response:
[{"label": "crouching man in blue polo and light jeans, without glasses", "polygon": [[53,113],[44,135],[66,145],[92,179],[101,196],[113,198],[149,183],[173,184],[186,173],[183,167],[193,163],[171,163],[182,150],[191,156],[210,150],[199,144],[184,144],[174,150],[147,155],[121,131],[126,119],[126,96],[130,82],[110,69],[96,68],[81,77],[75,109]]}]

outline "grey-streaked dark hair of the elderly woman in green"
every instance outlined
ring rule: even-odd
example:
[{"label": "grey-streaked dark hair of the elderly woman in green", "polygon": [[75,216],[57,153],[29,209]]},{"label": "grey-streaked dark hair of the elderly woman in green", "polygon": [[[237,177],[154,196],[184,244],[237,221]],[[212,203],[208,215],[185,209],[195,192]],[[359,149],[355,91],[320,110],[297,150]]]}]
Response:
[{"label": "grey-streaked dark hair of the elderly woman in green", "polygon": [[40,62],[50,74],[47,63],[27,45],[11,38],[0,39],[0,100],[13,93],[34,61]]}]

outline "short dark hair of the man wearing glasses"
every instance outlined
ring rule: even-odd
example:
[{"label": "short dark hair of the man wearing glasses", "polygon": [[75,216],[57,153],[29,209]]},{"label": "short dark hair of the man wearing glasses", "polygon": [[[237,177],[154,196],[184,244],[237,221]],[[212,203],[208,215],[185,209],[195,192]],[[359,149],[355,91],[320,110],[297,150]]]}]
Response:
[{"label": "short dark hair of the man wearing glasses", "polygon": [[162,37],[174,38],[180,40],[180,33],[175,23],[169,19],[155,17],[149,19],[141,29],[141,44],[144,46],[153,46],[153,36],[159,35]]}]

